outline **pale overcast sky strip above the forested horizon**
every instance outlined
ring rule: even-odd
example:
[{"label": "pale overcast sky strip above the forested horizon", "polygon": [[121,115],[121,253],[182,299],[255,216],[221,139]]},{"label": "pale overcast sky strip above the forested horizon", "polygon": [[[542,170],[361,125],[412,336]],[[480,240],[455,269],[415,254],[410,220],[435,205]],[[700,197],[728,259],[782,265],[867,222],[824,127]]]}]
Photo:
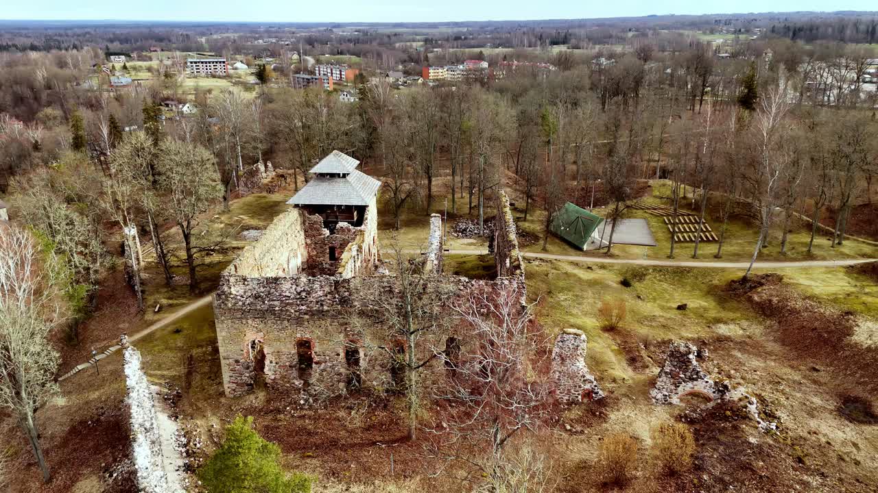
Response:
[{"label": "pale overcast sky strip above the forested horizon", "polygon": [[2,0],[2,19],[425,22],[606,18],[650,14],[878,10],[874,0]]}]

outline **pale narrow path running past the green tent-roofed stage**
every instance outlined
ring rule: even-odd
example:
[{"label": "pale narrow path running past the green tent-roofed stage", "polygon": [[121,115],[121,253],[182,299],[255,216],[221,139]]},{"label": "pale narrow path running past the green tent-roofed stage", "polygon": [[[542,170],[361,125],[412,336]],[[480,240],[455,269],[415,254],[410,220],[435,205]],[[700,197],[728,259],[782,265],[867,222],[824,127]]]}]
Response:
[{"label": "pale narrow path running past the green tent-roofed stage", "polygon": [[[407,252],[418,254],[420,252]],[[487,250],[446,250],[445,254],[452,255],[484,255]],[[698,267],[698,268],[747,268],[750,262],[723,262],[723,261],[651,261],[645,259],[613,259],[608,257],[586,257],[582,255],[556,255],[539,252],[525,252],[522,254],[529,259],[549,259],[553,261],[593,262],[608,264],[630,264],[654,267]],[[780,261],[759,262],[753,268],[809,268],[809,267],[846,267],[865,262],[878,261],[878,259],[850,259],[843,261]]]}]

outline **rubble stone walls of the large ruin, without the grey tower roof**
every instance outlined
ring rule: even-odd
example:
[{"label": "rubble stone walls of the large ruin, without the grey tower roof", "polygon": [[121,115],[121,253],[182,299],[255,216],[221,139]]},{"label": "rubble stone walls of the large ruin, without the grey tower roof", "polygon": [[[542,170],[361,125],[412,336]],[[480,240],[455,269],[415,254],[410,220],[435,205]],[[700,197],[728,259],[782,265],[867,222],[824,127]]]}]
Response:
[{"label": "rubble stone walls of the large ruin, without the grey tower roof", "polygon": [[[292,218],[297,214],[299,223]],[[392,275],[376,274],[375,208],[369,207],[363,226],[338,225],[335,234],[329,234],[315,219],[319,218],[302,215],[299,210],[285,212],[278,218],[279,224],[272,224],[263,239],[248,247],[221,277],[214,312],[228,396],[241,396],[263,382],[272,392],[303,398],[332,397],[359,387],[391,389],[394,385],[392,359],[385,349],[394,342],[388,340],[389,331],[381,321],[382,314],[376,312],[375,300],[396,296],[397,282]],[[300,232],[277,232],[288,227],[298,227]],[[430,269],[437,275],[433,284],[447,294],[449,303],[465,297],[471,289],[515,284],[524,292],[515,229],[511,237],[508,230],[504,232],[504,239],[498,242],[497,255],[514,260],[503,261],[509,266],[504,270],[508,275],[495,280],[441,275],[441,232],[441,218],[431,218],[430,247],[436,255]],[[299,255],[303,245],[306,255]],[[328,260],[330,246],[340,254],[335,263]],[[263,253],[263,248],[275,251]],[[318,261],[321,256],[327,260]],[[289,259],[301,259],[299,265],[304,267],[291,274]],[[250,265],[254,260],[261,262],[259,268]],[[277,264],[263,265],[270,261]],[[284,265],[279,265],[282,262]],[[430,258],[425,264],[429,262]],[[460,335],[451,319],[449,307],[447,332],[422,337],[419,346],[424,354],[419,354],[419,359],[443,351],[454,338],[465,351],[466,336]],[[430,364],[436,371],[428,374],[443,375],[442,359]]]}]

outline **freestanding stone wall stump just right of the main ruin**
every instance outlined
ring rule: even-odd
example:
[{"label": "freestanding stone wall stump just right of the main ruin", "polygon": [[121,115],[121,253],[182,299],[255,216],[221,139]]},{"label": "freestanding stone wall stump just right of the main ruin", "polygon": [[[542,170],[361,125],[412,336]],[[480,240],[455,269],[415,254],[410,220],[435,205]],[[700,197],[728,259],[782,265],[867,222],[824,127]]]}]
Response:
[{"label": "freestanding stone wall stump just right of the main ruin", "polygon": [[586,334],[576,329],[565,329],[555,339],[551,353],[551,379],[558,402],[579,404],[604,397],[586,366]]}]

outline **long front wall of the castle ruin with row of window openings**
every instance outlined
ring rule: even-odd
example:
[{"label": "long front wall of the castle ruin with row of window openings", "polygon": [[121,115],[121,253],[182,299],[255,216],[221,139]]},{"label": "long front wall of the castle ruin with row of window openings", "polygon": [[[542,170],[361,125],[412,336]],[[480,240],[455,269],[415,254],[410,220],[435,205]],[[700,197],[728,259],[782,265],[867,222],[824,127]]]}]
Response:
[{"label": "long front wall of the castle ruin with row of window openings", "polygon": [[[442,276],[433,287],[454,300],[467,297],[472,290],[499,289],[507,284],[523,289],[519,277],[486,281],[452,275]],[[227,395],[241,396],[255,386],[251,341],[263,347],[265,384],[275,391],[305,390],[311,397],[343,394],[351,375],[345,351],[355,348],[362,386],[378,390],[392,387],[391,358],[378,347],[388,347],[393,341],[375,300],[396,296],[395,288],[391,275],[224,276],[214,297],[214,311]],[[447,310],[442,318],[448,326],[421,339],[420,358],[441,351],[452,334],[464,341],[465,349],[466,338],[457,328],[453,311],[450,306],[443,310]],[[298,368],[296,347],[300,340],[307,340],[313,352],[313,367],[306,374],[300,374]],[[441,367],[440,361],[436,364]]]}]

